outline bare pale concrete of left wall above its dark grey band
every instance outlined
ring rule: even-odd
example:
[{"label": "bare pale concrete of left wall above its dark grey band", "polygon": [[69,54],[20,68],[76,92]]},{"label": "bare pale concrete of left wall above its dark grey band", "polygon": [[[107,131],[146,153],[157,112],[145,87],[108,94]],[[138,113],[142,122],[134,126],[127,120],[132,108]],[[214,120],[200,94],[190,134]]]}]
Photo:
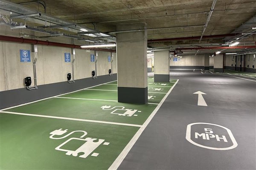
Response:
[{"label": "bare pale concrete of left wall above its dark grey band", "polygon": [[[34,34],[32,31],[24,29],[12,31],[8,26],[0,26],[0,34],[2,35],[20,37],[20,32]],[[45,36],[45,34],[37,33],[37,36]],[[39,38],[37,39],[39,40]],[[65,37],[49,38],[48,40],[71,43],[71,39]],[[74,42],[74,44],[79,43],[81,42]],[[0,49],[0,78],[2,80],[0,81],[0,91],[25,88],[24,78],[31,77],[33,79],[32,53],[31,62],[20,62],[20,49],[31,50],[31,45],[0,42]],[[64,53],[71,54],[71,48],[38,45],[38,60],[36,62],[38,85],[67,81],[67,73],[72,73],[72,65],[71,62],[64,62]],[[75,79],[91,77],[91,71],[95,70],[95,64],[90,62],[90,54],[94,54],[94,51],[76,49]],[[113,54],[113,74],[115,74],[116,53]],[[108,69],[111,68],[108,55],[110,55],[110,52],[98,51],[97,76],[108,74]],[[72,60],[72,55],[70,58]],[[33,81],[32,85],[34,85]]]}]

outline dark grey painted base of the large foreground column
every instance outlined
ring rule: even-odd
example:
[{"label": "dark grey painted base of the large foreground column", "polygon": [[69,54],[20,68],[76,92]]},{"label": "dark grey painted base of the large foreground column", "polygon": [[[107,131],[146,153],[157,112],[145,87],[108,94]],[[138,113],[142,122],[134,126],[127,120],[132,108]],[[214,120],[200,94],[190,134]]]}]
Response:
[{"label": "dark grey painted base of the large foreground column", "polygon": [[148,87],[117,87],[117,96],[118,102],[146,104],[148,102]]}]

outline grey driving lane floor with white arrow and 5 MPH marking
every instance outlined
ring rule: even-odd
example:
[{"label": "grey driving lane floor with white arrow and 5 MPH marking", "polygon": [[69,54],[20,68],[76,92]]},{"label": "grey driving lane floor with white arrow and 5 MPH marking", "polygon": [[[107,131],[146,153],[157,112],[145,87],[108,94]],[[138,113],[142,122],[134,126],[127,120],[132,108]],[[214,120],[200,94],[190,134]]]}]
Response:
[{"label": "grey driving lane floor with white arrow and 5 MPH marking", "polygon": [[[255,170],[256,82],[193,70],[171,70],[170,76],[180,81],[118,169]],[[206,93],[208,106],[197,105],[196,91]],[[187,125],[196,122],[227,127],[238,146],[211,150],[188,142]]]}]

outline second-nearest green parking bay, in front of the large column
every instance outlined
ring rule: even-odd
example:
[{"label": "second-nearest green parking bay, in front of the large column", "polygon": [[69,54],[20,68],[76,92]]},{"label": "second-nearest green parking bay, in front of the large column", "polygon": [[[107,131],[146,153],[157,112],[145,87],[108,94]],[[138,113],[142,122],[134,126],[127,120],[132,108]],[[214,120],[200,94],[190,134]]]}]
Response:
[{"label": "second-nearest green parking bay, in front of the large column", "polygon": [[142,125],[157,105],[50,98],[6,111]]}]

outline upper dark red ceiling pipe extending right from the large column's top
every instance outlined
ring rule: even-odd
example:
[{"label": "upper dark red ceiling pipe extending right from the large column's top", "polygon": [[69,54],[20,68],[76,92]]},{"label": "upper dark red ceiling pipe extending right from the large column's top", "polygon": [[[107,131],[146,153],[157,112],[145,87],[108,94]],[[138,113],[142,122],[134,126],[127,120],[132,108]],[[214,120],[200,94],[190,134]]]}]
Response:
[{"label": "upper dark red ceiling pipe extending right from the large column's top", "polygon": [[[205,35],[202,39],[210,39],[210,38],[222,38],[222,37],[233,37],[236,34],[221,34],[221,35]],[[176,41],[176,40],[199,40],[201,37],[179,37],[179,38],[166,38],[166,39],[156,39],[156,40],[148,40],[148,42],[165,42],[165,41]]]}]

